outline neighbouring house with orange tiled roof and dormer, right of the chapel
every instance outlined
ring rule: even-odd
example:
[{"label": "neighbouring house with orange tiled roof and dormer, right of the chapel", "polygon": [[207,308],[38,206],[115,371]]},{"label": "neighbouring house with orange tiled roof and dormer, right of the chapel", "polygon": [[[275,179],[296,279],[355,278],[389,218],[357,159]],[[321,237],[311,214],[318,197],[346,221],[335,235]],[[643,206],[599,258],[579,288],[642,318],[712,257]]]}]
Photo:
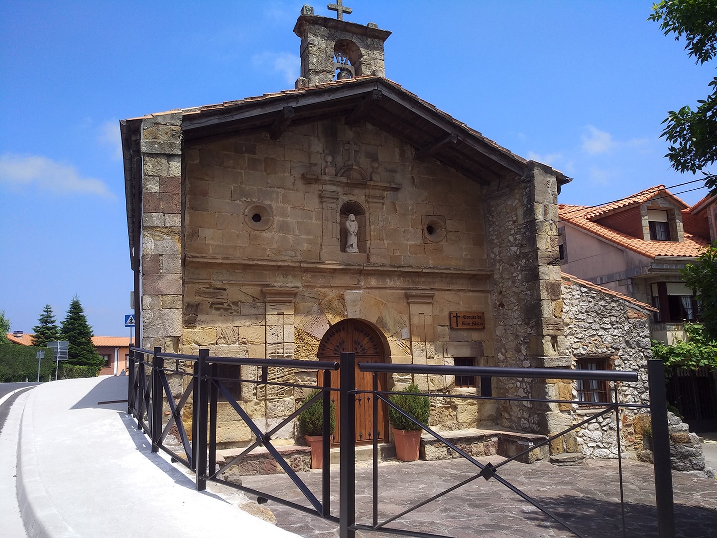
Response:
[{"label": "neighbouring house with orange tiled roof and dormer, right of the chapel", "polygon": [[671,344],[699,318],[680,269],[710,244],[713,209],[714,199],[690,208],[664,185],[600,207],[560,204],[561,268],[657,308],[650,332]]}]

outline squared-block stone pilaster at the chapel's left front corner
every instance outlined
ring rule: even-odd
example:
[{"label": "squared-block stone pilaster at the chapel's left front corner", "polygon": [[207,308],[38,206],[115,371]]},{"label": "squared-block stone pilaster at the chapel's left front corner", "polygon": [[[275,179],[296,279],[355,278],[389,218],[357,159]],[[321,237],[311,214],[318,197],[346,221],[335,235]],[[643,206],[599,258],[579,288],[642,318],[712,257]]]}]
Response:
[{"label": "squared-block stone pilaster at the chapel's left front corner", "polygon": [[142,345],[179,351],[182,334],[181,112],[142,121]]}]

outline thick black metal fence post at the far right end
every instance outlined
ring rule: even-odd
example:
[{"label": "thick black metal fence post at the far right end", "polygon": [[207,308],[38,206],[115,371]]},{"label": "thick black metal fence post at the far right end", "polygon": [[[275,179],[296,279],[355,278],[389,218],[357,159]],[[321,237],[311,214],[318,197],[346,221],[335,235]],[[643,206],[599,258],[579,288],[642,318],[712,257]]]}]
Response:
[{"label": "thick black metal fence post at the far right end", "polygon": [[650,384],[650,420],[652,422],[652,457],[655,461],[655,499],[657,504],[657,536],[675,537],[675,504],[672,467],[670,465],[670,433],[668,402],[665,391],[665,363],[647,361]]}]

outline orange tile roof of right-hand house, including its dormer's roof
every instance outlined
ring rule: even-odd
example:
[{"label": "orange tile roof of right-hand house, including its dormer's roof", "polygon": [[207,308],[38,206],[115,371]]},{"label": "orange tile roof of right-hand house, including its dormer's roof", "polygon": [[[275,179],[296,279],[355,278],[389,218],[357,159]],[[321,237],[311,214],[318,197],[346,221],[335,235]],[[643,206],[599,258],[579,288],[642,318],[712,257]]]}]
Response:
[{"label": "orange tile roof of right-hand house, including its dormer's roof", "polygon": [[709,246],[710,242],[688,232],[685,232],[684,242],[645,241],[642,237],[632,237],[632,235],[618,232],[610,227],[594,222],[597,217],[614,211],[614,209],[627,207],[632,204],[642,204],[657,195],[670,196],[675,199],[676,202],[682,204],[685,209],[688,207],[685,202],[665,189],[664,185],[657,185],[657,187],[650,187],[650,189],[645,189],[642,192],[632,194],[632,196],[610,202],[600,207],[559,204],[558,217],[559,220],[569,222],[571,225],[579,227],[592,235],[612,242],[619,247],[627,248],[628,250],[647,256],[647,258],[654,259],[657,258],[657,256],[685,256],[695,258],[700,255],[700,253]]}]

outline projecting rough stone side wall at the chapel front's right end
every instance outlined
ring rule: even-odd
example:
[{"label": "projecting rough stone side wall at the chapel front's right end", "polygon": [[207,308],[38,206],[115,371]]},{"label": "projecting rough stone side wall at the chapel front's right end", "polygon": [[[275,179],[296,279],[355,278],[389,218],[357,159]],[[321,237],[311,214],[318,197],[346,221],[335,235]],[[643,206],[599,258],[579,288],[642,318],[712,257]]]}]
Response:
[{"label": "projecting rough stone side wall at the chapel front's right end", "polygon": [[[493,267],[491,300],[495,362],[500,367],[566,367],[560,287],[555,172],[529,163],[524,177],[486,189],[485,222]],[[551,380],[500,381],[504,397],[555,398]],[[557,405],[505,402],[498,421],[506,428],[556,433],[566,424]]]}]

